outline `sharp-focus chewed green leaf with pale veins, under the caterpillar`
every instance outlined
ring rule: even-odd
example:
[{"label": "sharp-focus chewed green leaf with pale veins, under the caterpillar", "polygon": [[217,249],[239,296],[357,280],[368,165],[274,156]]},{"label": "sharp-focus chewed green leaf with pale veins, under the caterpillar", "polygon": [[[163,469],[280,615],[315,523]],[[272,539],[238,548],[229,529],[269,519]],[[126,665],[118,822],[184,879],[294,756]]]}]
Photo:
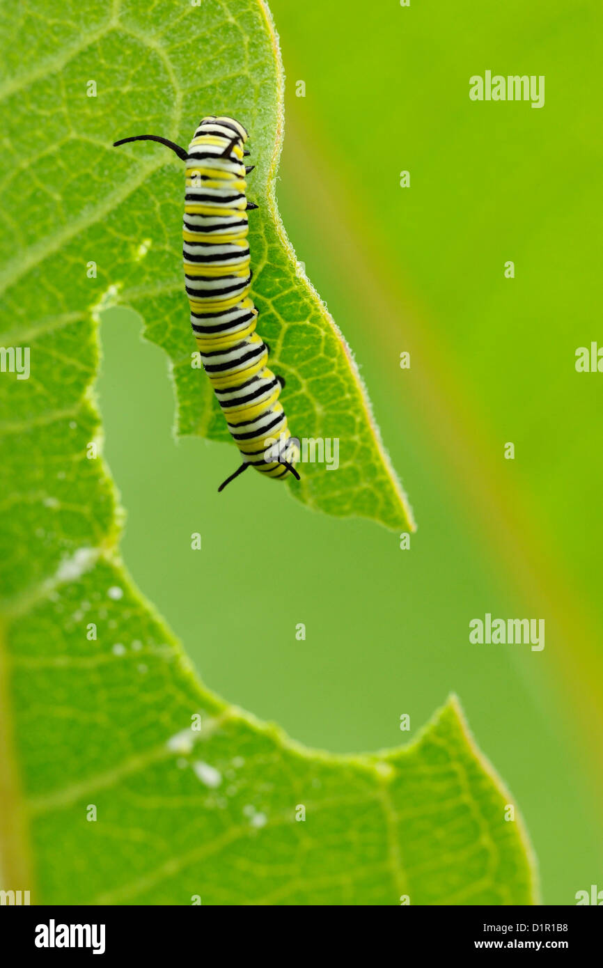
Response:
[{"label": "sharp-focus chewed green leaf with pale veins, under the caterpillar", "polygon": [[[305,432],[312,414],[315,436],[347,427],[353,442],[338,493],[316,472],[304,499],[409,525],[355,371],[292,276],[270,194],[281,102],[265,9],[99,12],[62,0],[45,5],[45,32],[38,14],[35,31],[26,10],[5,15],[16,19],[4,26],[0,86],[11,139],[1,344],[30,349],[31,375],[0,375],[3,889],[30,890],[33,903],[533,902],[522,821],[505,819],[512,801],[456,701],[406,749],[301,749],[200,686],[118,558],[114,489],[89,447],[102,442],[96,317],[116,290],[174,360],[182,429],[219,429],[185,364],[176,166],[154,146],[130,159],[109,144],[143,130],[186,138],[210,108],[254,132],[257,197],[268,201],[252,240],[256,297],[292,386],[292,422]],[[86,97],[90,79],[97,98]]]}]

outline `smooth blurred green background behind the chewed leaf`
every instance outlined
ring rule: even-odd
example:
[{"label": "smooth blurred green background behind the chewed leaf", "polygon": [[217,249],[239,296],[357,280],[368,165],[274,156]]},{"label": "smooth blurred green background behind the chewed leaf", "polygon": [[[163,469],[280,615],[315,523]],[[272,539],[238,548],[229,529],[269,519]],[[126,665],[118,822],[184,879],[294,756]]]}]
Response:
[{"label": "smooth blurred green background behind the chewed leaf", "polygon": [[[398,535],[312,514],[258,475],[217,495],[232,448],[174,441],[166,357],[112,310],[98,391],[124,558],[203,680],[296,740],[395,745],[401,713],[414,734],[457,692],[522,808],[544,902],[575,903],[603,889],[603,375],[574,368],[576,348],[603,345],[599,5],[271,9],[287,76],[281,213],[419,529],[401,551]],[[486,70],[545,75],[545,106],[470,102]],[[486,612],[545,619],[545,649],[469,645]]]}]

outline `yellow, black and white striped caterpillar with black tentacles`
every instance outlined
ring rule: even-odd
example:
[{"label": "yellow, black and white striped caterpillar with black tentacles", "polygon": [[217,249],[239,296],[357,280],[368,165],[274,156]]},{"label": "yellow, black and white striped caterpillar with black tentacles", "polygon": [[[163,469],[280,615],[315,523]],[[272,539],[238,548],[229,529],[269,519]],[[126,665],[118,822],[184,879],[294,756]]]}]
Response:
[{"label": "yellow, black and white striped caterpillar with black tentacles", "polygon": [[[256,333],[250,295],[253,272],[248,243],[248,133],[230,117],[202,118],[188,149],[158,135],[114,141],[159,141],[186,165],[183,260],[191,325],[201,363],[236,443],[241,465],[218,488],[253,467],[267,477],[299,480],[299,457],[283,405],[285,386],[268,368],[269,348]],[[274,442],[277,440],[278,442]],[[270,442],[272,441],[272,442]]]}]

